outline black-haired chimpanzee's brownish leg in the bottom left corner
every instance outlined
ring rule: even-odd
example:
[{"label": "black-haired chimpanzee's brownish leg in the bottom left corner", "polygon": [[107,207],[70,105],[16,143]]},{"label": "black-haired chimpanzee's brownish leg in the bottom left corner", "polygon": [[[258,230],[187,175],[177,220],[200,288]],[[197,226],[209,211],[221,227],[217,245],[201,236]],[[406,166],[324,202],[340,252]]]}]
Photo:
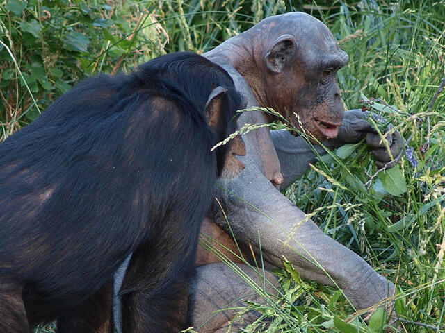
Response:
[{"label": "black-haired chimpanzee's brownish leg in the bottom left corner", "polygon": [[22,300],[23,288],[0,278],[0,332],[30,333]]}]

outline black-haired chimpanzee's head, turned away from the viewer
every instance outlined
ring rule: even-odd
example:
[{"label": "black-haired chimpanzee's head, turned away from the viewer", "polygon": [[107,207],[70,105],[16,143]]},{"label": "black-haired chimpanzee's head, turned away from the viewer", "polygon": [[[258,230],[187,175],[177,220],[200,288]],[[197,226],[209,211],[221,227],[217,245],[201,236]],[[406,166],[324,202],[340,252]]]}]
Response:
[{"label": "black-haired chimpanzee's head, turned away from the viewer", "polygon": [[[195,53],[179,52],[150,60],[139,69],[145,78],[165,78],[165,84],[170,80],[182,90],[179,95],[202,111],[201,116],[213,133],[214,145],[236,130],[236,111],[243,109],[245,103],[236,91],[232,78],[219,65]],[[235,151],[236,155],[245,154],[241,137],[237,136],[229,144],[216,148],[218,176],[223,171],[229,150],[232,153]]]}]

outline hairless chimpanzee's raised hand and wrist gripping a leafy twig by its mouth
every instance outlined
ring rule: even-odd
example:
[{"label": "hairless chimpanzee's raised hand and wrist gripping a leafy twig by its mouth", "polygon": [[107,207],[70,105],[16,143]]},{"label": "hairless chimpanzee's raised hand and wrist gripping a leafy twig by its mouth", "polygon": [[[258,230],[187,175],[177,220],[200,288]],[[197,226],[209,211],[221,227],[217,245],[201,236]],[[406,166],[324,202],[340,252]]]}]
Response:
[{"label": "hairless chimpanzee's raised hand and wrist gripping a leafy twig by its mouth", "polygon": [[[366,144],[373,149],[377,167],[381,168],[388,162],[390,162],[388,167],[393,167],[397,161],[397,157],[403,150],[405,140],[401,133],[398,132],[398,130],[392,130],[394,127],[389,124],[383,134],[387,140],[389,151],[391,151],[391,154],[389,154],[385,142],[382,141],[374,126],[369,123],[369,116],[370,112],[363,112],[360,109],[346,111],[343,117],[343,126],[339,128],[339,135],[334,139],[334,146],[339,147],[343,144],[355,144],[366,136]],[[378,115],[372,114],[372,117],[375,119],[375,122],[380,121]],[[391,156],[393,157],[392,159]],[[391,160],[393,162],[391,162]]]}]

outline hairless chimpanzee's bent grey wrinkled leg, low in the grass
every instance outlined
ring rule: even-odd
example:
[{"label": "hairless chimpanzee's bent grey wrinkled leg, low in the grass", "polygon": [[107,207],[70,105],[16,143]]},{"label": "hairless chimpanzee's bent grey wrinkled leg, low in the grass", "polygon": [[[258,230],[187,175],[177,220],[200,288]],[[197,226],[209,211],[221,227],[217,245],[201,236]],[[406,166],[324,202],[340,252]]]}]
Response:
[{"label": "hairless chimpanzee's bent grey wrinkled leg, low in the grass", "polygon": [[[238,271],[238,273],[236,273]],[[257,311],[243,313],[244,300],[266,305],[259,295],[240,275],[250,279],[262,292],[274,298],[277,293],[277,280],[269,271],[260,271],[243,264],[236,264],[236,271],[218,262],[197,268],[193,294],[192,325],[200,333],[241,332],[248,324],[256,321]],[[227,310],[224,310],[227,309]]]}]

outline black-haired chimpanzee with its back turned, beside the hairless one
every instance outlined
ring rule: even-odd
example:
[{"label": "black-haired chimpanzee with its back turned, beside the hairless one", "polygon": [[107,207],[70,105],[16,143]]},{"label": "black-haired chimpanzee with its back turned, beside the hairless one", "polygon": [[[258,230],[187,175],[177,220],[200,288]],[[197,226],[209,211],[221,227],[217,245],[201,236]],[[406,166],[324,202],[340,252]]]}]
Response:
[{"label": "black-haired chimpanzee with its back turned, beside the hairless one", "polygon": [[83,80],[0,144],[0,332],[55,318],[63,332],[65,314],[111,295],[130,253],[124,326],[186,328],[197,237],[225,162],[225,146],[211,148],[238,108],[224,69],[174,53]]}]

